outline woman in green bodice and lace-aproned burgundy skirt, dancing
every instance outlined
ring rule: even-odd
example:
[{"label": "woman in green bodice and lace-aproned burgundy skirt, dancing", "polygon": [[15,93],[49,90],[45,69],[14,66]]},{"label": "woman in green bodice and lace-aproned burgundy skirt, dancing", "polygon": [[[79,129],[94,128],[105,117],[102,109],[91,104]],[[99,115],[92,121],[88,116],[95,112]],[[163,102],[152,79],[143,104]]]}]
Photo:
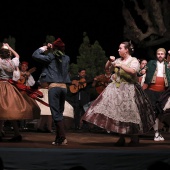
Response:
[{"label": "woman in green bodice and lace-aproned burgundy skirt, dancing", "polygon": [[91,104],[82,120],[106,131],[120,134],[115,146],[124,146],[125,134],[130,135],[129,146],[139,144],[139,134],[147,133],[154,125],[154,112],[147,96],[138,84],[139,61],[132,57],[130,42],[119,46],[120,58],[110,57],[105,67],[115,72],[113,82]]}]

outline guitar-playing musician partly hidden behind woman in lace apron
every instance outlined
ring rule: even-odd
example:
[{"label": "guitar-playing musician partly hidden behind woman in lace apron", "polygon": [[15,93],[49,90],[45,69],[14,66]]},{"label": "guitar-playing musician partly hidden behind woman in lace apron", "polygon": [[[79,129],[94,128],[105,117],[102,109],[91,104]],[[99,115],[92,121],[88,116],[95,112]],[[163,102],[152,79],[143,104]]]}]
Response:
[{"label": "guitar-playing musician partly hidden behind woman in lace apron", "polygon": [[101,74],[94,78],[92,87],[96,88],[98,94],[101,94],[102,91],[107,87],[107,85],[111,82],[111,72],[109,69],[105,69],[105,74]]}]

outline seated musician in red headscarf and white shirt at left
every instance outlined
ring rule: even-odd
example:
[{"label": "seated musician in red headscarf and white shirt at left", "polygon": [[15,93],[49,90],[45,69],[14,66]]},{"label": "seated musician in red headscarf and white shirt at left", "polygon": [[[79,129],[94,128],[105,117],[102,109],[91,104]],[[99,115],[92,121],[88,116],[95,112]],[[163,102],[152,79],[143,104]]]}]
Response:
[{"label": "seated musician in red headscarf and white shirt at left", "polygon": [[[35,70],[33,70],[35,71]],[[35,80],[31,73],[28,71],[28,62],[23,61],[20,66],[20,79],[18,82],[25,84],[26,86],[33,86]]]}]

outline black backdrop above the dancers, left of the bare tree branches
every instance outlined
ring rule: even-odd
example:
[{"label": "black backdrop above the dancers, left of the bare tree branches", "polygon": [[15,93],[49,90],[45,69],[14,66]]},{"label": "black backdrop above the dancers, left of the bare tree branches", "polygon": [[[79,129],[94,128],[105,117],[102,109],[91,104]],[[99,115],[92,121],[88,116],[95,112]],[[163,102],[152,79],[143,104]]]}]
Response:
[{"label": "black backdrop above the dancers, left of the bare tree branches", "polygon": [[121,8],[120,0],[2,1],[0,41],[9,35],[14,37],[20,60],[30,65],[35,65],[32,53],[43,45],[46,35],[63,40],[71,62],[76,62],[79,55],[83,32],[87,32],[91,44],[99,41],[106,56],[118,56],[124,25]]}]

